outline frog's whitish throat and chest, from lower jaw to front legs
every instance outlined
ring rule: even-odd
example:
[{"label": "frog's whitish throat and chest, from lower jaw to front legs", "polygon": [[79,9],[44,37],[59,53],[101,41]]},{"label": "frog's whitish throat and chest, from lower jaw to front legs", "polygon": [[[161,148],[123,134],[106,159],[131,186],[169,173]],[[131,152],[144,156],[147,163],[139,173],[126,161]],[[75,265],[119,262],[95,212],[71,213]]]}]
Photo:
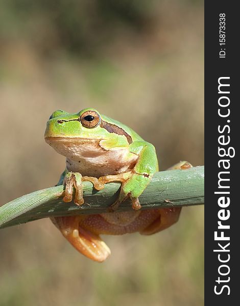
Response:
[{"label": "frog's whitish throat and chest, from lower jaw to front legs", "polygon": [[80,172],[83,176],[100,177],[130,171],[136,164],[137,155],[128,147],[106,150],[100,139],[49,138],[49,143],[59,154],[66,157],[68,171]]}]

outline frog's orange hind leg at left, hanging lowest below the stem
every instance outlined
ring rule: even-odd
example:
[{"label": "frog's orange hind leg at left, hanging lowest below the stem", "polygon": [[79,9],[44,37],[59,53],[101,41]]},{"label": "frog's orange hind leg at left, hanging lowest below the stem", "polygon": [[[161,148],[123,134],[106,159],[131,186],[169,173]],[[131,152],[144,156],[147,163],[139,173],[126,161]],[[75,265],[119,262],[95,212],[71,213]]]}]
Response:
[{"label": "frog's orange hind leg at left, hanging lowest below the stem", "polygon": [[97,262],[105,261],[111,251],[98,235],[79,226],[85,216],[55,217],[52,222],[80,253]]}]

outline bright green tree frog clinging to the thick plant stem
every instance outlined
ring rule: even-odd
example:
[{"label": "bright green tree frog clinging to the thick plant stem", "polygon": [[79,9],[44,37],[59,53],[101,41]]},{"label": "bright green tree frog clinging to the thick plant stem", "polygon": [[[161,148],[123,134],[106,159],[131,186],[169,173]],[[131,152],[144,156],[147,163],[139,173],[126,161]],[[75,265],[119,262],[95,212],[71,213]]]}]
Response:
[{"label": "bright green tree frog clinging to the thick plant stem", "polygon": [[[139,232],[152,235],[175,223],[181,209],[141,211],[138,197],[158,171],[155,147],[128,126],[92,108],[76,114],[55,111],[46,124],[45,141],[66,157],[66,168],[58,185],[65,184],[63,200],[84,203],[82,181],[101,190],[109,182],[121,182],[118,199],[104,214],[55,217],[53,223],[63,236],[86,257],[103,262],[111,251],[100,234],[123,235]],[[181,162],[175,168],[187,169]],[[117,212],[127,197],[132,211]]]}]

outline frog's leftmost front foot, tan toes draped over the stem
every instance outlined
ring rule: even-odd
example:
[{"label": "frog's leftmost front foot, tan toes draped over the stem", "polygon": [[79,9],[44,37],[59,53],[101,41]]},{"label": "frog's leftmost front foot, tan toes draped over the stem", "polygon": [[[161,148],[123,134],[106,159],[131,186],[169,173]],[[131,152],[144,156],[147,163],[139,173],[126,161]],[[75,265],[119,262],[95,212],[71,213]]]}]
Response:
[{"label": "frog's leftmost front foot, tan toes draped over the stem", "polygon": [[64,202],[70,202],[73,199],[74,187],[76,189],[74,202],[80,206],[84,203],[83,189],[82,189],[82,175],[79,172],[68,172],[65,175],[64,183],[65,196],[63,197]]}]

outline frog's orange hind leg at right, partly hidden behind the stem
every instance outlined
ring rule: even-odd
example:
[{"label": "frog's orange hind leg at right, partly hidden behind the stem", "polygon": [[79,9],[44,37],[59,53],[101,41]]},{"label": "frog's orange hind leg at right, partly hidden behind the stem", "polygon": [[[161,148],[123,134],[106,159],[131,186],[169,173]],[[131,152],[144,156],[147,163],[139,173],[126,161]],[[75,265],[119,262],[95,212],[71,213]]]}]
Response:
[{"label": "frog's orange hind leg at right, partly hidden behind the stem", "polygon": [[[187,170],[191,167],[193,167],[191,164],[184,161],[177,163],[168,170],[175,170],[175,169]],[[156,219],[146,228],[141,230],[139,233],[142,235],[152,235],[162,230],[165,230],[165,228],[173,225],[178,221],[181,209],[182,209],[181,207],[159,209],[158,210],[159,214],[156,217]],[[142,213],[144,213],[144,211]]]}]

